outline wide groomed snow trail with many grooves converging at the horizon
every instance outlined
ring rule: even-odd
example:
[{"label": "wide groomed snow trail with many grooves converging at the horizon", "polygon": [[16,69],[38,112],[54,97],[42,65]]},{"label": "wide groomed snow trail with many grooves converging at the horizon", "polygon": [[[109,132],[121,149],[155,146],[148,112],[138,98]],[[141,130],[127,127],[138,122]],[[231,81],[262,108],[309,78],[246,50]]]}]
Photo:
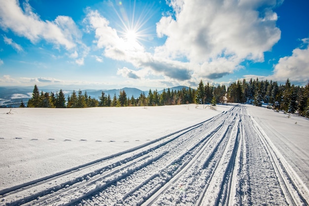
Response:
[{"label": "wide groomed snow trail with many grooves converging at the horizon", "polygon": [[308,205],[243,105],[146,145],[0,191],[1,205]]}]

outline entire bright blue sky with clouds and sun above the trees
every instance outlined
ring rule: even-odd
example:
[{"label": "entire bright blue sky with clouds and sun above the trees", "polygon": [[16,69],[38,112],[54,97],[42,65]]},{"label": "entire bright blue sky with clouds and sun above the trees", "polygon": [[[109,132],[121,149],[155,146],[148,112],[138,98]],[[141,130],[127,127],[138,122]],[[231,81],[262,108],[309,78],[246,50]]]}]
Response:
[{"label": "entire bright blue sky with clouds and sun above the trees", "polygon": [[308,0],[0,0],[0,86],[309,81]]}]

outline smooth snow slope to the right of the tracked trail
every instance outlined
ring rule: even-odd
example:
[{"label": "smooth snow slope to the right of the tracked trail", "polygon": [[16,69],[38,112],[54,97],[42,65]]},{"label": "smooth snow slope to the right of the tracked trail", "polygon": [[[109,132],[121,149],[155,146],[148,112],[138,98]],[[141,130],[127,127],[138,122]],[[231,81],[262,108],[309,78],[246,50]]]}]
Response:
[{"label": "smooth snow slope to the right of the tracked trail", "polygon": [[265,107],[246,106],[309,188],[309,119]]}]

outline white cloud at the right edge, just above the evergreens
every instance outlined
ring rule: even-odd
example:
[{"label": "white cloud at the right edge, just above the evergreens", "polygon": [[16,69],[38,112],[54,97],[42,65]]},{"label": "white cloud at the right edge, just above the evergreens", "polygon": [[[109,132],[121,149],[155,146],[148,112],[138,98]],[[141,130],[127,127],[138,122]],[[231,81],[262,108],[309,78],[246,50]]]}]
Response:
[{"label": "white cloud at the right edge, just above the evergreens", "polygon": [[302,39],[306,47],[304,49],[296,48],[292,56],[279,59],[278,64],[274,66],[272,79],[285,81],[289,78],[291,81],[307,84],[309,80],[309,38]]}]

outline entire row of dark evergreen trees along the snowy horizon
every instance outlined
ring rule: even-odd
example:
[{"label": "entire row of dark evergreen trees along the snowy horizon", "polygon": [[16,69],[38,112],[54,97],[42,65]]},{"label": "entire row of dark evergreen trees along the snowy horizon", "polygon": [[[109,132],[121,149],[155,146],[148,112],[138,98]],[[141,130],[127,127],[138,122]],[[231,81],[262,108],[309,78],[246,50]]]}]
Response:
[{"label": "entire row of dark evergreen trees along the snowy horizon", "polygon": [[[186,103],[252,103],[261,106],[262,103],[268,103],[270,107],[276,110],[283,110],[289,113],[299,113],[302,116],[309,117],[309,83],[305,87],[291,85],[287,79],[285,84],[278,85],[276,81],[250,79],[237,80],[229,85],[217,87],[207,82],[204,84],[200,80],[197,89],[191,87],[181,90],[163,90],[161,93],[157,90],[149,90],[148,94],[142,92],[138,98],[127,97],[124,90],[113,97],[102,91],[101,96],[92,98],[85,91],[73,91],[67,98],[62,89],[59,92],[44,93],[39,92],[35,85],[32,98],[28,101],[28,107],[58,107],[58,108],[84,108],[96,106],[161,106],[176,105]],[[25,106],[24,103],[21,106]]]}]

